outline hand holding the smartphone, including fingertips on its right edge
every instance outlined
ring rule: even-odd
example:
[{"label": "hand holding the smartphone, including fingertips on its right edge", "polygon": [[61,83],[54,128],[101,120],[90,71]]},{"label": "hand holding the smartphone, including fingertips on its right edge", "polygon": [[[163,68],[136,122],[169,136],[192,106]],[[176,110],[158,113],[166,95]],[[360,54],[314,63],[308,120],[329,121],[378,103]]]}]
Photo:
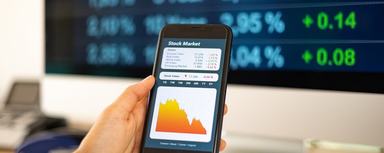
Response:
[{"label": "hand holding the smartphone, including fingertips on its right edge", "polygon": [[[104,109],[75,152],[139,152],[148,93],[155,84],[151,75],[132,85]],[[224,107],[224,114],[227,113]],[[226,146],[220,141],[220,151]]]}]

